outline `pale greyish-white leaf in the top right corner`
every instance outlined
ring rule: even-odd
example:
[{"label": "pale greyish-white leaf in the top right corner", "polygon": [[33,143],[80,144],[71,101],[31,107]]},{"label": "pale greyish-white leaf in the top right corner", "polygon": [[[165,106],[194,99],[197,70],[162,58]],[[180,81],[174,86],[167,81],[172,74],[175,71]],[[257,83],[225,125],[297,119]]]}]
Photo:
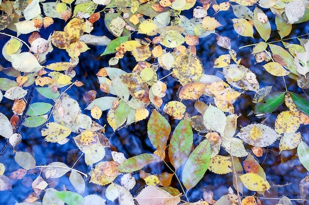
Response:
[{"label": "pale greyish-white leaf in the top right corner", "polygon": [[285,15],[288,18],[288,24],[294,24],[301,20],[305,15],[305,5],[302,0],[292,0],[285,6]]}]

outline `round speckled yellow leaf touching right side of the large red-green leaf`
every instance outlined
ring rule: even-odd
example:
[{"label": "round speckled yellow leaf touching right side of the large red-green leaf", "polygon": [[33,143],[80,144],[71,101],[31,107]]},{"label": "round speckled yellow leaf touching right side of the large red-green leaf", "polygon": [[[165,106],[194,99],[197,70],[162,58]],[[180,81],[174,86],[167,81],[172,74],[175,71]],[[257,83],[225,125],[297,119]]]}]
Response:
[{"label": "round speckled yellow leaf touching right side of the large red-green leaf", "polygon": [[232,161],[231,157],[216,155],[210,159],[208,169],[216,174],[225,175],[232,172]]}]

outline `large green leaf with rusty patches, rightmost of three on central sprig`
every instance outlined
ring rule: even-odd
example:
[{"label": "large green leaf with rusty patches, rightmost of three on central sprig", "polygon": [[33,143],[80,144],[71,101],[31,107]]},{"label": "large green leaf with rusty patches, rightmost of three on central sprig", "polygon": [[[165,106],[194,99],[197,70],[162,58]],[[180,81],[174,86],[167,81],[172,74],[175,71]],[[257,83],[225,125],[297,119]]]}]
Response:
[{"label": "large green leaf with rusty patches, rightmost of three on central sprig", "polygon": [[210,162],[210,143],[201,142],[190,154],[183,170],[182,181],[187,189],[192,189],[204,176]]}]

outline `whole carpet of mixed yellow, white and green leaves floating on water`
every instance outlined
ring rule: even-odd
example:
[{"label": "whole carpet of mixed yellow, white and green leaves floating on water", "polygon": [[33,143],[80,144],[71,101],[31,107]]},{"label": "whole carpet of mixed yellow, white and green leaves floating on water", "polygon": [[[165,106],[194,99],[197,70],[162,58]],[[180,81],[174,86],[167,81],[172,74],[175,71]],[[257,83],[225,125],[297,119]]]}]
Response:
[{"label": "whole carpet of mixed yellow, white and green leaves floating on water", "polygon": [[[13,112],[10,116],[0,113],[0,135],[12,146],[15,162],[21,167],[5,175],[8,165],[0,164],[0,190],[9,190],[14,179],[21,180],[33,170],[39,170],[31,182],[33,193],[25,202],[17,204],[93,205],[117,199],[119,204],[126,205],[261,205],[259,198],[266,191],[289,185],[270,185],[258,160],[267,160],[267,147],[275,141],[279,141],[280,152],[295,150],[298,156],[295,160],[309,171],[309,146],[303,139],[306,133],[301,132],[309,124],[309,99],[305,93],[309,88],[309,42],[297,38],[298,44],[290,43],[295,38],[286,38],[293,24],[309,20],[307,0],[220,3],[215,0],[2,0],[0,3],[0,30],[4,30],[0,34],[10,36],[2,48],[2,56],[12,65],[0,66],[0,101],[10,100]],[[188,12],[192,14],[191,19]],[[216,31],[224,26],[216,18],[218,12],[233,13],[231,35],[263,39],[253,45],[243,45],[253,47],[252,57],[263,65],[263,75],[274,76],[279,82],[289,78],[302,91],[292,92],[287,87],[284,91],[271,91],[271,86],[261,87],[259,76],[237,57],[231,38]],[[54,30],[47,39],[42,38],[40,33],[53,25],[56,18],[66,22],[66,26]],[[113,34],[112,40],[90,34],[100,18],[104,18],[106,28]],[[16,31],[16,36],[6,33],[8,29]],[[270,41],[271,33],[278,33],[280,40]],[[28,41],[20,36],[27,36]],[[201,38],[216,38],[217,45],[226,51],[217,57],[213,68],[204,67],[196,56]],[[85,110],[89,112],[82,111],[75,96],[66,91],[84,86],[75,79],[78,57],[93,46],[106,46],[102,56],[111,58],[109,66],[98,68],[96,74],[102,92],[89,90],[83,95],[88,103]],[[54,49],[65,50],[70,61],[46,64]],[[117,68],[119,61],[130,55],[136,61],[131,72]],[[218,69],[224,79],[205,74],[205,68]],[[178,82],[177,100],[164,99],[166,91],[172,88],[168,88],[166,76],[159,78],[162,70],[169,71]],[[240,126],[234,104],[245,92],[254,93],[254,109],[250,114],[260,117],[260,121]],[[34,94],[41,102],[32,102]],[[212,103],[203,102],[205,96]],[[188,113],[185,105],[188,103],[184,101],[194,105],[198,114]],[[276,112],[283,104],[286,110]],[[268,119],[270,113],[276,113],[274,123]],[[173,130],[166,119],[168,116],[179,120]],[[148,119],[148,138],[155,151],[130,158],[112,151],[102,119],[115,132]],[[39,127],[48,143],[64,145],[74,141],[91,171],[85,174],[63,162],[38,165],[29,152],[15,151],[25,137],[20,132],[21,126]],[[193,133],[204,136],[203,140],[193,142]],[[113,160],[105,160],[106,155]],[[143,168],[150,163],[161,164],[169,172],[146,173]],[[232,187],[226,195],[218,196],[217,201],[211,190],[201,190],[201,200],[189,202],[190,191],[207,170],[218,174],[217,177],[232,173]],[[130,192],[136,186],[134,175],[139,175],[146,185],[135,196]],[[90,183],[106,186],[104,198],[97,194],[83,196],[88,176]],[[59,177],[69,177],[75,190],[56,190],[51,186],[53,179]],[[308,198],[308,183],[309,176],[299,182],[302,202]],[[282,197],[277,205],[282,204],[292,202]]]}]

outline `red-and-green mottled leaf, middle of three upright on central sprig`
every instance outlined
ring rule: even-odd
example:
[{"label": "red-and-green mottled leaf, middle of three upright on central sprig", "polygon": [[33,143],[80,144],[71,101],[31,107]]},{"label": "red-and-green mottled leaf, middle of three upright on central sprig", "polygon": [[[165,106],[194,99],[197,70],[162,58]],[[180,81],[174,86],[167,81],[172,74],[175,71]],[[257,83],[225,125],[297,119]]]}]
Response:
[{"label": "red-and-green mottled leaf, middle of three upright on central sprig", "polygon": [[190,155],[193,144],[193,132],[190,119],[186,115],[175,128],[168,149],[168,156],[177,170]]}]

